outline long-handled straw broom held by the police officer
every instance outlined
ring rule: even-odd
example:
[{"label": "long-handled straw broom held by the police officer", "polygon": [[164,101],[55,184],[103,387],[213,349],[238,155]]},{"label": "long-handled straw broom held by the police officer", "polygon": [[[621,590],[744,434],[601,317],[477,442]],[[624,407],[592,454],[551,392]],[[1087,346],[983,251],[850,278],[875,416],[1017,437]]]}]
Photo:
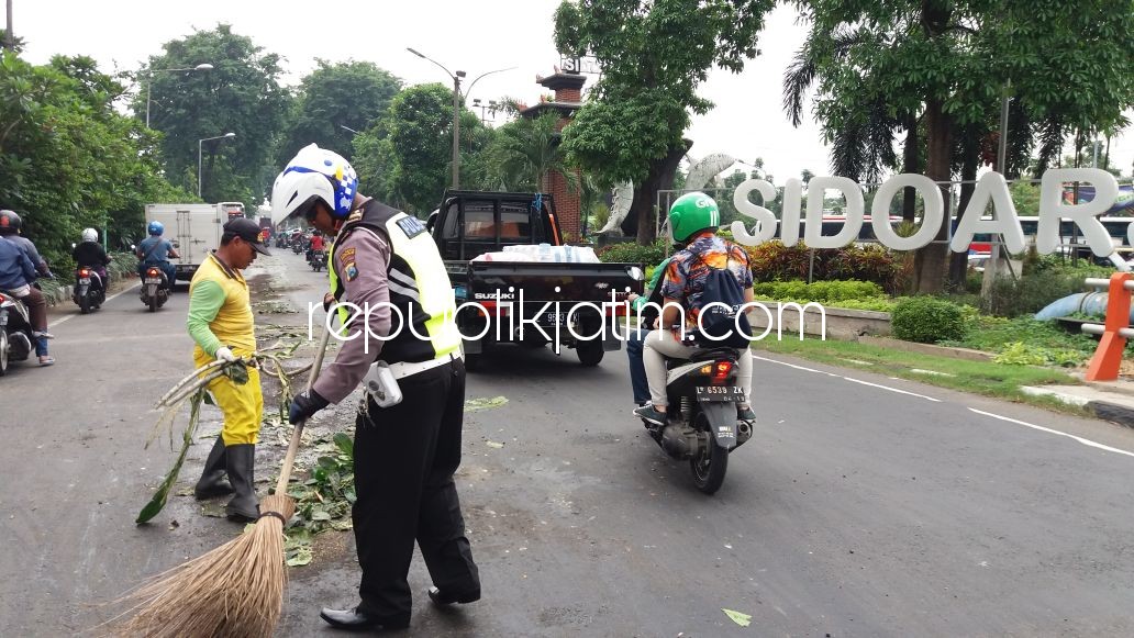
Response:
[{"label": "long-handled straw broom held by the police officer", "polygon": [[[307,391],[319,376],[330,340],[323,331]],[[121,636],[169,638],[262,638],[271,636],[284,612],[287,567],[284,564],[284,525],[295,513],[287,495],[291,466],[305,422],[299,422],[284,458],[276,493],[260,503],[260,519],[251,530],[174,569],[154,576],[126,596],[137,605]],[[124,614],[125,615],[125,614]]]}]

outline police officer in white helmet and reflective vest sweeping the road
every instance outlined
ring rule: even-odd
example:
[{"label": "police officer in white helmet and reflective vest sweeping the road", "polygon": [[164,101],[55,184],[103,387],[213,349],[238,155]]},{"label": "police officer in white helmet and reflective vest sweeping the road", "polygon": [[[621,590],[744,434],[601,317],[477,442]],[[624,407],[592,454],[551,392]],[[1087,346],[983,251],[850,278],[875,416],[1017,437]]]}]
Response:
[{"label": "police officer in white helmet and reflective vest sweeping the road", "polygon": [[[346,321],[335,363],[293,401],[291,423],[345,399],[372,364],[388,365],[401,402],[367,394],[355,422],[353,521],[362,567],[361,602],[320,615],[340,629],[409,626],[407,575],[414,541],[434,604],[480,599],[452,475],[460,463],[465,367],[448,274],[425,227],[357,192],[346,160],[312,144],[276,178],[272,210],[298,214],[335,237],[324,305],[364,312]],[[336,305],[337,306],[337,305]],[[340,317],[347,312],[337,306]],[[383,401],[384,402],[384,401]]]}]

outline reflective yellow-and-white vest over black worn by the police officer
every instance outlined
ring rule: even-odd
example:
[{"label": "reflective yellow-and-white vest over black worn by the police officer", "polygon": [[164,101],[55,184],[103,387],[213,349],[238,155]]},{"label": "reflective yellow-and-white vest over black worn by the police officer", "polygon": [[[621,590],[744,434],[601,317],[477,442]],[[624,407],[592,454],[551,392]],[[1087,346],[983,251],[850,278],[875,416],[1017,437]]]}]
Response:
[{"label": "reflective yellow-and-white vest over black worn by the police officer", "polygon": [[[417,218],[373,199],[355,210],[331,245],[328,277],[331,292],[339,301],[344,300],[346,288],[339,279],[338,255],[352,232],[373,232],[390,246],[387,286],[390,304],[398,308],[400,317],[399,312],[391,312],[390,329],[396,335],[383,343],[378,359],[391,364],[428,361],[457,351],[460,332],[449,273],[425,226]],[[340,325],[347,325],[350,311],[339,306],[338,312]]]}]

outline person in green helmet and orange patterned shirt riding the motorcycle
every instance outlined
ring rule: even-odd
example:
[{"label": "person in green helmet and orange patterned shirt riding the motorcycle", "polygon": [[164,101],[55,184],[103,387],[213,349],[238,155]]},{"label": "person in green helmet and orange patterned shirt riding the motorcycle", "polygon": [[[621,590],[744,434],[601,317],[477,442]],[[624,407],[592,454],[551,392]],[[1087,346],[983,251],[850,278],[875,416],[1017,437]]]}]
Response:
[{"label": "person in green helmet and orange patterned shirt riding the motorcycle", "polygon": [[[665,425],[668,398],[666,395],[666,357],[688,359],[696,354],[699,344],[683,340],[691,329],[696,330],[701,296],[710,269],[727,269],[736,277],[744,290],[744,301],[754,299],[752,271],[748,254],[744,248],[717,237],[720,226],[720,210],[717,202],[704,193],[687,193],[674,202],[669,209],[669,228],[674,241],[685,241],[686,248],[678,250],[666,267],[661,284],[661,325],[646,335],[642,361],[645,366],[651,403],[634,410],[634,415],[650,423]],[[672,305],[670,305],[672,304]],[[684,315],[684,329],[680,326]],[[744,391],[744,401],[737,405],[738,420],[754,420],[750,397],[752,392],[752,351],[742,348],[737,357],[737,385]]]}]

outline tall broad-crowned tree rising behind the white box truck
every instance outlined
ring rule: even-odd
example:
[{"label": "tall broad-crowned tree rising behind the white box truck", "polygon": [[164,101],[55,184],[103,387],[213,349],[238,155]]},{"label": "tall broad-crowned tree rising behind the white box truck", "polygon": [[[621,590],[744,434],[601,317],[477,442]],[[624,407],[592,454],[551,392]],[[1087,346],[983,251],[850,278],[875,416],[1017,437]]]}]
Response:
[{"label": "tall broad-crowned tree rising behind the white box truck", "polygon": [[[196,192],[198,148],[202,195],[208,202],[242,201],[249,209],[271,188],[279,171],[274,148],[291,97],[279,84],[280,57],[256,46],[229,25],[167,42],[138,74],[143,90],[134,101],[150,126],[164,134],[161,155],[171,181]],[[212,65],[212,70],[161,69]],[[230,139],[198,142],[235,133]]]}]

